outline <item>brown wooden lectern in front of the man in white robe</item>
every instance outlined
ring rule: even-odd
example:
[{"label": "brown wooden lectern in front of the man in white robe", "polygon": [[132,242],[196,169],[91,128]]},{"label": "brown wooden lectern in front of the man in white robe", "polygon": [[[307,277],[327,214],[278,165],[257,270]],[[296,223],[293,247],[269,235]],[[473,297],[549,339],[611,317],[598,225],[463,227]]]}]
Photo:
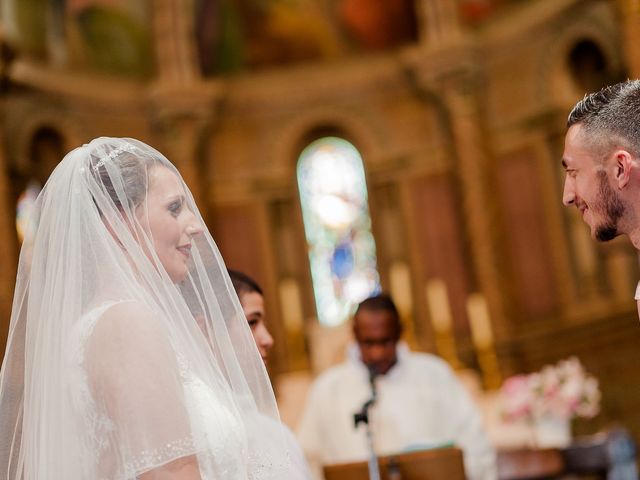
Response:
[{"label": "brown wooden lectern in front of the man in white robe", "polygon": [[[462,451],[457,448],[421,450],[378,459],[381,480],[465,480]],[[324,467],[326,480],[368,480],[367,462]]]}]

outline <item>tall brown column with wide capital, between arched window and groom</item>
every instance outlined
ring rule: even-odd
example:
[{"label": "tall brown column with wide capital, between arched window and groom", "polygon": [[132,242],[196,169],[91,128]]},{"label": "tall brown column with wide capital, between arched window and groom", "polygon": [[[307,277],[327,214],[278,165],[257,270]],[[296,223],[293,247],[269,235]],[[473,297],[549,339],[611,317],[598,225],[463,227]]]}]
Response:
[{"label": "tall brown column with wide capital, between arched window and groom", "polygon": [[495,202],[487,185],[477,39],[462,28],[457,2],[421,0],[418,5],[420,45],[403,54],[407,80],[447,123],[451,155],[457,160],[475,290],[486,296],[496,338],[501,339],[509,330],[502,289],[506,282],[498,272],[499,257],[493,238]]}]

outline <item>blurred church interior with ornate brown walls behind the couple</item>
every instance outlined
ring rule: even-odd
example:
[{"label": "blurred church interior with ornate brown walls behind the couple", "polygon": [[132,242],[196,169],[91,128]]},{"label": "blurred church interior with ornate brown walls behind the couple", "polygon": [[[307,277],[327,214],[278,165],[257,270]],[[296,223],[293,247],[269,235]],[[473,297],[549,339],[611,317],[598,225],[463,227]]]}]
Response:
[{"label": "blurred church interior with ornate brown walls behind the couple", "polygon": [[638,256],[590,238],[561,166],[572,106],[640,77],[636,0],[0,5],[3,345],[29,201],[74,147],[132,137],[262,285],[292,427],[358,299],[384,291],[403,340],[478,402],[576,357],[601,398],[572,434],[640,442]]}]

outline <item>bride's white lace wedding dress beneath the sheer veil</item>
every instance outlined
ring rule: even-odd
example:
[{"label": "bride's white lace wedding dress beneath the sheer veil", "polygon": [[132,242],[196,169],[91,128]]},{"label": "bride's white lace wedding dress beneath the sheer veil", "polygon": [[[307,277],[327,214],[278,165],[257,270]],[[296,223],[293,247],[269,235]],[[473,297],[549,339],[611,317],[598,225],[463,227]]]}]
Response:
[{"label": "bride's white lace wedding dress beneath the sheer veil", "polygon": [[[94,379],[90,378],[85,368],[85,347],[98,320],[109,308],[119,303],[123,302],[104,303],[87,312],[77,323],[68,350],[71,401],[74,409],[78,411],[78,421],[83,422],[80,431],[85,433],[83,438],[78,439],[78,452],[84,452],[79,455],[82,458],[78,458],[78,462],[83,465],[86,478],[135,479],[144,471],[196,454],[203,480],[246,480],[249,476],[247,439],[238,412],[225,406],[219,394],[195,376],[186,360],[178,354],[175,357],[177,376],[182,384],[181,394],[189,425],[177,427],[175,438],[163,442],[160,447],[131,447],[136,443],[136,439],[131,440],[127,437],[133,436],[128,432],[129,425],[118,425],[118,421],[114,420],[108,408],[109,402],[113,399],[99,398],[99,395],[95,394]],[[154,375],[164,373],[159,369],[156,372],[149,371],[148,375],[153,378]],[[123,372],[123,375],[126,376],[127,372]],[[163,398],[155,400],[163,402]],[[149,409],[154,408],[155,403],[149,405]],[[179,407],[170,410],[164,412],[167,419],[179,416],[180,412],[176,411]],[[142,413],[142,416],[146,415],[146,412]],[[136,417],[128,418],[135,421]],[[158,421],[165,420],[158,418]],[[125,453],[122,453],[123,449]]]}]

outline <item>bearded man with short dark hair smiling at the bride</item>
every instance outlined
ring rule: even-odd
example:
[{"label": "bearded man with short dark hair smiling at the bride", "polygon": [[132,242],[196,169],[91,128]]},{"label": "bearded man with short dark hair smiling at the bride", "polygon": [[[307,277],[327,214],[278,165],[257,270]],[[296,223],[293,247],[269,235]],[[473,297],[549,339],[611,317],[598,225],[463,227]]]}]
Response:
[{"label": "bearded man with short dark hair smiling at the bride", "polygon": [[[640,80],[591,93],[567,120],[562,202],[601,242],[627,235],[640,250]],[[640,314],[640,284],[636,290]]]}]

